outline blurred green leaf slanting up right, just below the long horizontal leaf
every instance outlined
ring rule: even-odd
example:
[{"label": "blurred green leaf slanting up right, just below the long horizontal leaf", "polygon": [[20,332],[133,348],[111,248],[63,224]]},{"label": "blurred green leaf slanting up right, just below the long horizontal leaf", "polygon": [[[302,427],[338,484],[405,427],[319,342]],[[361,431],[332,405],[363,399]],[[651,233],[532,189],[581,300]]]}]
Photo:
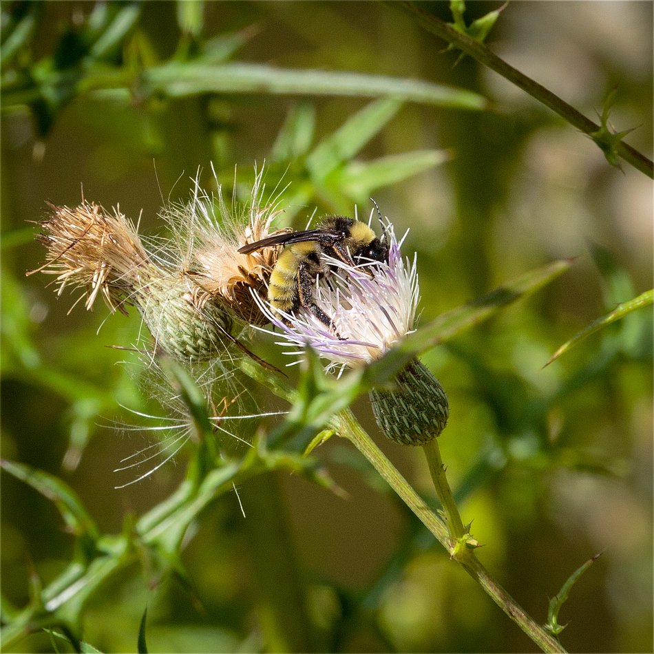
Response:
[{"label": "blurred green leaf slanting up right, just below the long horizontal leaf", "polygon": [[325,178],[350,160],[399,111],[401,101],[384,98],[370,103],[321,141],[306,158],[306,166],[316,178]]}]

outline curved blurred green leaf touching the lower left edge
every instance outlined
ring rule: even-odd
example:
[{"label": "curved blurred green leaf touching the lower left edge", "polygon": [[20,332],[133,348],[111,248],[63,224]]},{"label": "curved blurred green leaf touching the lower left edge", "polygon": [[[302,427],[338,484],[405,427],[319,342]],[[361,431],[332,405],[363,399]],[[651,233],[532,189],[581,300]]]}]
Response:
[{"label": "curved blurred green leaf touching the lower left edge", "polygon": [[0,467],[54,503],[67,527],[76,536],[97,540],[98,528],[75,492],[58,477],[15,461],[0,461]]}]

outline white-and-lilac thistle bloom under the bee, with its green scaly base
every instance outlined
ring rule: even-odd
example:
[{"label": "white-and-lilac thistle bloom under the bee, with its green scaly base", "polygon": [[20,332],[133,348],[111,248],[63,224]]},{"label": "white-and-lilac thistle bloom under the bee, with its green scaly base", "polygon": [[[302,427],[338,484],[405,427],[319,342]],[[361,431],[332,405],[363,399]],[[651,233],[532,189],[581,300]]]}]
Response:
[{"label": "white-and-lilac thistle bloom under the bee, with its green scaly base", "polygon": [[[371,214],[372,218],[372,214]],[[379,359],[397,341],[414,330],[420,291],[417,260],[405,259],[390,222],[385,225],[388,262],[370,262],[352,268],[332,257],[326,262],[333,272],[316,279],[314,299],[333,321],[327,328],[302,308],[291,315],[271,307],[255,295],[255,302],[279,329],[278,345],[291,346],[284,352],[302,361],[305,348],[313,348],[329,361],[328,370],[356,368]],[[370,274],[372,273],[372,277]],[[293,363],[289,365],[293,365]],[[393,380],[392,390],[374,389],[370,401],[379,428],[390,439],[421,445],[438,436],[449,416],[447,396],[441,384],[422,363],[415,360]]]}]

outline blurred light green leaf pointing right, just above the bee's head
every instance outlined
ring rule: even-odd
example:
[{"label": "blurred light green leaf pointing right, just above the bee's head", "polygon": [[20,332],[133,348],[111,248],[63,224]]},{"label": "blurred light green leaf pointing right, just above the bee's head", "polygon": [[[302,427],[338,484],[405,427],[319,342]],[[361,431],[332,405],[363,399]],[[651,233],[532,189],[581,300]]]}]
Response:
[{"label": "blurred light green leaf pointing right, just above the bee's head", "polygon": [[450,159],[447,150],[414,150],[374,161],[352,161],[339,173],[338,185],[353,198],[368,198],[376,189],[401,182]]}]

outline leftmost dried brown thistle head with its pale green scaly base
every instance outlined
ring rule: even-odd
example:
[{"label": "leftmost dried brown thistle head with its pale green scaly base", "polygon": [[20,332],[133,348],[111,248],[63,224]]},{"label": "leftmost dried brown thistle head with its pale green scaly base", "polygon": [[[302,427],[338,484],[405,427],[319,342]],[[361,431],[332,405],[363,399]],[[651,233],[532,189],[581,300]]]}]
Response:
[{"label": "leftmost dried brown thistle head with its pale green scaly base", "polygon": [[136,306],[156,347],[180,359],[199,361],[224,351],[229,315],[214,302],[198,302],[198,288],[165,258],[148,252],[117,207],[113,215],[86,201],[74,209],[50,207],[38,237],[48,261],[28,275],[56,275],[58,295],[68,285],[84,288],[80,299],[85,297],[87,309],[98,295],[112,312]]}]

